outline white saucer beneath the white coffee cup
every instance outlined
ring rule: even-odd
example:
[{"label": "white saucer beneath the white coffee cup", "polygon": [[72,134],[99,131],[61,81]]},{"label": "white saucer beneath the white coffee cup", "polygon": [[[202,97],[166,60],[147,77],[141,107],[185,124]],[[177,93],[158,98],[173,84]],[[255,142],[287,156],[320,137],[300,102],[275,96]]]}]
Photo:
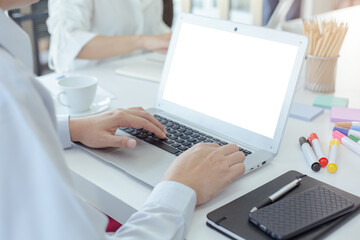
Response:
[{"label": "white saucer beneath the white coffee cup", "polygon": [[105,111],[106,109],[109,108],[111,103],[111,99],[107,96],[103,96],[103,95],[97,95],[95,97],[94,103],[91,105],[90,110],[86,111],[86,112],[81,112],[81,113],[69,113],[68,109],[64,106],[62,106],[61,104],[59,104],[56,101],[56,112],[57,114],[70,114],[71,117],[85,117],[85,116],[90,116],[90,115],[94,115],[96,113],[101,113],[103,111]]}]

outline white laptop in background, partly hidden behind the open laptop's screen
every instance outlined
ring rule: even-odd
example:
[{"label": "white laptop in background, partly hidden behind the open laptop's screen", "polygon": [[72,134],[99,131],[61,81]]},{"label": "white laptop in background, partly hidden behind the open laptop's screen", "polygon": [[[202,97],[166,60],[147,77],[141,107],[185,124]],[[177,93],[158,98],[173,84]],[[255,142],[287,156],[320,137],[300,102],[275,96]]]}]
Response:
[{"label": "white laptop in background, partly hidden behind the open laptop's screen", "polygon": [[115,73],[125,77],[160,82],[165,54],[149,52],[123,59]]}]

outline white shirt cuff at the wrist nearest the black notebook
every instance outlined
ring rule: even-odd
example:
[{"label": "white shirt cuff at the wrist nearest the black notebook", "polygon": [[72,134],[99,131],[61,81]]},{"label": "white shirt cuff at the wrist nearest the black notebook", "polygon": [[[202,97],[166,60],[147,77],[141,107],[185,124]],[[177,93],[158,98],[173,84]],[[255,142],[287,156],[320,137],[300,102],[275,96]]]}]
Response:
[{"label": "white shirt cuff at the wrist nearest the black notebook", "polygon": [[189,230],[196,205],[196,193],[193,189],[174,181],[160,182],[155,186],[145,205],[152,203],[182,213],[186,223],[186,232]]}]

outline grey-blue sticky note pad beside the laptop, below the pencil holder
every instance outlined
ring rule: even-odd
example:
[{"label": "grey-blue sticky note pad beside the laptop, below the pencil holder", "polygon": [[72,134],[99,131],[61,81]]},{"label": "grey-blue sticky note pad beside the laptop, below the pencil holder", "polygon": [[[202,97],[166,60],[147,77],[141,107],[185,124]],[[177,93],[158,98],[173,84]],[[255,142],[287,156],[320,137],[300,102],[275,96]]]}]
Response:
[{"label": "grey-blue sticky note pad beside the laptop, below the pencil holder", "polygon": [[324,112],[324,109],[313,107],[302,103],[293,103],[290,110],[290,117],[304,121],[312,121]]}]

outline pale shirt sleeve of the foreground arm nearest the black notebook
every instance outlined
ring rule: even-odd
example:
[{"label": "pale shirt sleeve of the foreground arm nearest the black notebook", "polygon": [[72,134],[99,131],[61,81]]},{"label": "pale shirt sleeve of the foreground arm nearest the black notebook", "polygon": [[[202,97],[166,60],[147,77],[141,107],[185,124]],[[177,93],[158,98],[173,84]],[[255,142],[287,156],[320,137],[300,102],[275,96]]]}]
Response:
[{"label": "pale shirt sleeve of the foreground arm nearest the black notebook", "polygon": [[191,188],[159,183],[144,206],[108,239],[185,239],[196,204]]}]

